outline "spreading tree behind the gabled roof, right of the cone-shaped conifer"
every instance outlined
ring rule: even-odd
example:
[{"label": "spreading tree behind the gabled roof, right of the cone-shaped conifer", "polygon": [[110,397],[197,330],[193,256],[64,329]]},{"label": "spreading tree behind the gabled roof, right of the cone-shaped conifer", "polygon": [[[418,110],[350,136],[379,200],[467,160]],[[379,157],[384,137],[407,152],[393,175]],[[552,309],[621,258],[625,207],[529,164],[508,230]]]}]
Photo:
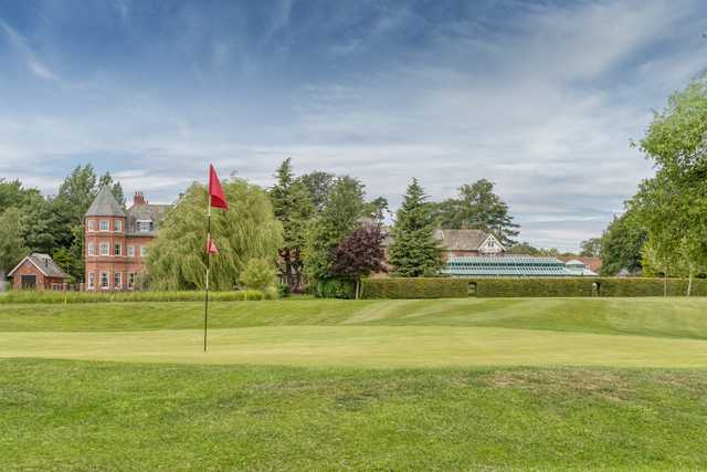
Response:
[{"label": "spreading tree behind the gabled roof, right of the cone-shaped conifer", "polygon": [[481,179],[458,190],[458,198],[439,206],[439,223],[443,229],[477,229],[495,234],[504,245],[515,243],[518,224],[513,222],[508,204],[494,193],[493,182]]}]

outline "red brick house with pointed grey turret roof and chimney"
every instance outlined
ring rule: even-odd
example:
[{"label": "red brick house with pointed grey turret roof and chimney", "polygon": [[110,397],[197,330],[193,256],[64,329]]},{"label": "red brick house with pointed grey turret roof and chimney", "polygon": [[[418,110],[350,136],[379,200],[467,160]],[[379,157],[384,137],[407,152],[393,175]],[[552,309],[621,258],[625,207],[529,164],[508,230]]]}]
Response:
[{"label": "red brick house with pointed grey turret roof and chimney", "polygon": [[171,206],[149,204],[136,192],[124,210],[103,187],[84,218],[86,291],[135,290],[145,273],[150,241]]}]

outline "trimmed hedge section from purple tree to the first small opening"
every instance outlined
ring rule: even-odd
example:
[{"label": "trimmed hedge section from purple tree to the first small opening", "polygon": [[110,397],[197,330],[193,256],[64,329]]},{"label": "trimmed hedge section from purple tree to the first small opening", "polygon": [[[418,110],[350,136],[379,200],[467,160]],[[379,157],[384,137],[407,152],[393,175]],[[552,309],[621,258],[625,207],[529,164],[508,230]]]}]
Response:
[{"label": "trimmed hedge section from purple tree to the first small opening", "polygon": [[441,277],[366,279],[361,298],[463,298],[468,296],[468,281]]}]

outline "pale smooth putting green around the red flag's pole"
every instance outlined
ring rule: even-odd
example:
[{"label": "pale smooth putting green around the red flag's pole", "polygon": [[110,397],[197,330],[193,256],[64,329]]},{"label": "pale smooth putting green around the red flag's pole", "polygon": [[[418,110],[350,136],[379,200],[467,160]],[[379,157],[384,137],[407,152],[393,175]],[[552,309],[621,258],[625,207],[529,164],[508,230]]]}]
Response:
[{"label": "pale smooth putting green around the red flag's pole", "polygon": [[355,367],[707,367],[707,340],[456,326],[0,334],[0,357]]}]

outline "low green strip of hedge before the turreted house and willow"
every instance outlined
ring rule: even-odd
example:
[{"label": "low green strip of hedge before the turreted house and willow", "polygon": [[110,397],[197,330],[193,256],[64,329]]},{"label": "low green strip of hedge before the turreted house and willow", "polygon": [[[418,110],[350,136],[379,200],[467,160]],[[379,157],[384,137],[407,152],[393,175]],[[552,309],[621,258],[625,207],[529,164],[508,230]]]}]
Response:
[{"label": "low green strip of hedge before the turreted house and willow", "polygon": [[[261,291],[209,292],[217,302],[257,301],[265,298]],[[51,292],[13,291],[0,296],[2,303],[106,303],[106,302],[200,302],[203,292]]]}]

